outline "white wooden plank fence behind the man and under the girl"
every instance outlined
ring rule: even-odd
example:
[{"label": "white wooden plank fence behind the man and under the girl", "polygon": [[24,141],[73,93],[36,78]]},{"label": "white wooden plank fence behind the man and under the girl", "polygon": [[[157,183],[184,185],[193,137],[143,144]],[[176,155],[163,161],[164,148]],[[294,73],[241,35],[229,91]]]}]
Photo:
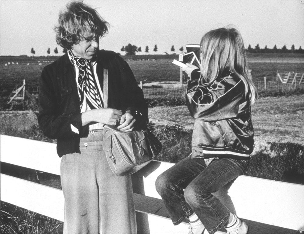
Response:
[{"label": "white wooden plank fence behind the man and under the girl", "polygon": [[[1,162],[60,175],[53,143],[1,135]],[[172,163],[153,161],[132,177],[139,233],[187,233],[166,218],[155,190],[157,176]],[[304,185],[239,176],[215,194],[239,217],[304,231]],[[1,174],[1,200],[63,221],[62,190]]]}]

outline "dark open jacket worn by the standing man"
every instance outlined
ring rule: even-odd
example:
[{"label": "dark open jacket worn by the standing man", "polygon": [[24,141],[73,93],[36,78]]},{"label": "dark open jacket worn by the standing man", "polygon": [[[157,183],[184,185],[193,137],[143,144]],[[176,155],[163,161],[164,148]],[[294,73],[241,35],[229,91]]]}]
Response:
[{"label": "dark open jacket worn by the standing man", "polygon": [[[137,110],[148,120],[147,103],[129,65],[113,51],[97,53],[96,72],[103,89],[103,69],[108,69],[108,107]],[[74,65],[67,54],[43,68],[39,91],[38,123],[43,133],[57,139],[59,157],[80,152],[80,138],[88,136],[88,126],[82,127],[80,101]],[[71,124],[79,134],[71,130]]]}]

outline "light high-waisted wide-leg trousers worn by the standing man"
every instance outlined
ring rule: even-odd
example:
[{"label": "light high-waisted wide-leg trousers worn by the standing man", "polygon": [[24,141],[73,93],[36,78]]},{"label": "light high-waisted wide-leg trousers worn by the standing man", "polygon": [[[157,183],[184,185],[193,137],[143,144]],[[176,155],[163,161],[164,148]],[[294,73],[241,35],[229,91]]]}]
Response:
[{"label": "light high-waisted wide-leg trousers worn by the standing man", "polygon": [[111,171],[102,141],[102,131],[90,131],[81,153],[61,159],[64,234],[137,233],[131,176]]}]

